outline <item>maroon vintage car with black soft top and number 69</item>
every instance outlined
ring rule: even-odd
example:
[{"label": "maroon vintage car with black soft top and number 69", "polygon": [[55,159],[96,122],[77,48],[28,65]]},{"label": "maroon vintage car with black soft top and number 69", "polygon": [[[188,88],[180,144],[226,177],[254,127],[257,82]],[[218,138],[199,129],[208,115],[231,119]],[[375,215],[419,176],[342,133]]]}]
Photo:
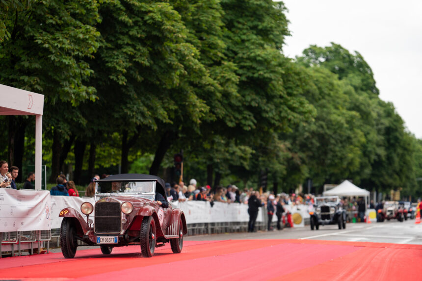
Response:
[{"label": "maroon vintage car with black soft top and number 69", "polygon": [[84,202],[80,212],[68,207],[59,214],[63,217],[60,228],[63,256],[75,256],[78,240],[100,246],[105,255],[111,254],[114,247],[140,245],[142,255],[151,257],[156,247],[167,242],[173,253],[180,253],[187,233],[185,214],[170,204],[163,208],[157,203],[157,196],[167,202],[164,188],[163,179],[143,174],[97,180],[94,205]]}]

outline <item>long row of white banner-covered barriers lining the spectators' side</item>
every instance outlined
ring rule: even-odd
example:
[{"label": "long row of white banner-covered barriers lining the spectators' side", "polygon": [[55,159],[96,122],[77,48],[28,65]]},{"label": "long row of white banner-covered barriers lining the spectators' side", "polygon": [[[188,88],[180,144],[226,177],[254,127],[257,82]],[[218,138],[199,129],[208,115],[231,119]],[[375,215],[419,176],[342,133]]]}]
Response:
[{"label": "long row of white banner-covered barriers lining the spectators' side", "polygon": [[[51,230],[60,228],[60,211],[72,207],[79,211],[80,204],[94,198],[50,196],[45,190],[0,189],[0,232],[25,230]],[[173,207],[184,211],[187,224],[248,222],[248,205],[215,202],[187,201],[173,202]],[[308,205],[285,206],[293,217],[294,227],[303,227],[304,219],[309,218]],[[94,214],[90,216],[94,219]],[[260,208],[258,222],[266,221],[266,209]],[[277,221],[274,215],[273,222]]]}]

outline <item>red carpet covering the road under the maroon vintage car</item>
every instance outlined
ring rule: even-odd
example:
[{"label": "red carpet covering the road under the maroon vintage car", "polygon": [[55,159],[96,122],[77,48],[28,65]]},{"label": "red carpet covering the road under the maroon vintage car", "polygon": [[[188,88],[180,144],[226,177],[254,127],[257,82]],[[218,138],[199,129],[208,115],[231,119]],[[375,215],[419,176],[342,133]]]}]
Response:
[{"label": "red carpet covering the road under the maroon vintage car", "polygon": [[422,245],[322,240],[185,241],[142,257],[139,246],[0,259],[0,280],[418,280]]}]

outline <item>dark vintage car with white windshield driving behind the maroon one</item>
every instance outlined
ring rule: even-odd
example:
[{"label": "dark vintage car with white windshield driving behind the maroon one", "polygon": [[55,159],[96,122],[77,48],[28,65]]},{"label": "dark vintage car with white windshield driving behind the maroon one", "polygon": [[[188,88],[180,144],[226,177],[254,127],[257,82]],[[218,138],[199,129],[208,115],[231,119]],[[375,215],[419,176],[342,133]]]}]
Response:
[{"label": "dark vintage car with white windshield driving behind the maroon one", "polygon": [[346,228],[347,214],[338,196],[315,197],[314,211],[309,212],[311,230],[320,225],[338,225],[339,230]]}]

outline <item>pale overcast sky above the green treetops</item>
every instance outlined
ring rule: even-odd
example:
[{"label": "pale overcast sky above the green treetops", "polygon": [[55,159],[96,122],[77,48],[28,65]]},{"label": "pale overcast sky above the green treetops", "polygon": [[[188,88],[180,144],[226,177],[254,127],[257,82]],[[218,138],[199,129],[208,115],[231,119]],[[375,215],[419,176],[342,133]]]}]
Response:
[{"label": "pale overcast sky above the green treetops", "polygon": [[393,102],[406,127],[422,139],[421,0],[283,0],[294,57],[334,42],[358,51],[371,67],[380,98]]}]

